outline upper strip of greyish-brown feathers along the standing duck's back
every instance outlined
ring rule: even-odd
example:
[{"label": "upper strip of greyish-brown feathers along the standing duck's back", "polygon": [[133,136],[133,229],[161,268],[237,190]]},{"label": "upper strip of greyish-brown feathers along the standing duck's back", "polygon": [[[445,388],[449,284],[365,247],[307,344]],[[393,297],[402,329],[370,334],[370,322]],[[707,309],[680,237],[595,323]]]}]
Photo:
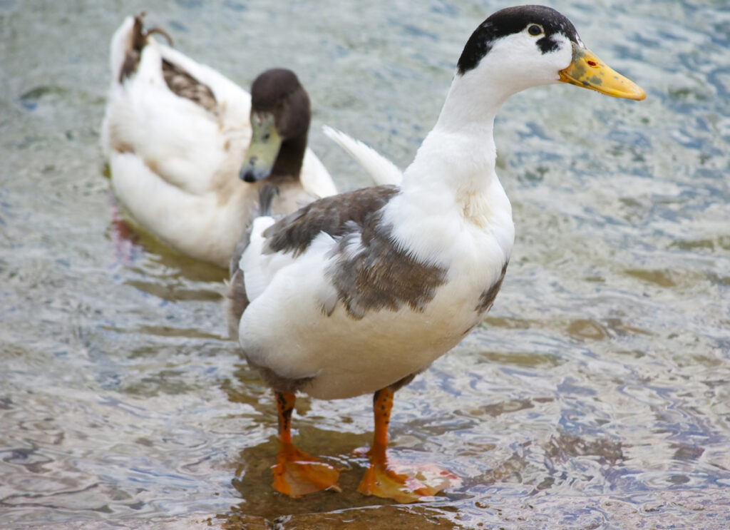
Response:
[{"label": "upper strip of greyish-brown feathers along the standing duck's back", "polygon": [[297,212],[278,220],[264,231],[268,252],[307,250],[320,233],[341,237],[372,222],[399,188],[393,185],[374,186],[340,193],[314,201]]}]

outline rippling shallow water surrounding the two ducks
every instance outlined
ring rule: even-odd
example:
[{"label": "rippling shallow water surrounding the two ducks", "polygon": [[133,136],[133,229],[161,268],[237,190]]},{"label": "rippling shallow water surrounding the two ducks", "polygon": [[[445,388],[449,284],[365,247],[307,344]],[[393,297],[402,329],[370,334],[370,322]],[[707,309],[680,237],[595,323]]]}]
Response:
[{"label": "rippling shallow water surrounding the two ducks", "polygon": [[550,86],[499,115],[518,230],[502,292],[391,422],[395,456],[462,477],[436,502],[355,493],[369,396],[295,415],[302,448],[347,469],[344,492],[274,493],[276,415],[225,338],[224,272],[115,223],[99,126],[129,12],[245,87],[294,69],[346,190],[369,181],[320,126],[405,166],[503,5],[0,0],[0,526],[730,526],[723,1],[550,4],[648,98]]}]

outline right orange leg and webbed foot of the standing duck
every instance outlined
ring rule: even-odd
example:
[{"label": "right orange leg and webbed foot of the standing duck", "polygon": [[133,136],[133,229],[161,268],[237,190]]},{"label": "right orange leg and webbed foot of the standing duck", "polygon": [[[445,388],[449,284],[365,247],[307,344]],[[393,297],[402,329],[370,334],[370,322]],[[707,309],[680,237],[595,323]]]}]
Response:
[{"label": "right orange leg and webbed foot of the standing duck", "polygon": [[375,429],[372,448],[368,451],[370,465],[358,491],[398,502],[427,500],[444,488],[458,485],[453,473],[431,464],[398,464],[388,460],[388,423],[393,408],[393,391],[382,388],[373,397]]}]

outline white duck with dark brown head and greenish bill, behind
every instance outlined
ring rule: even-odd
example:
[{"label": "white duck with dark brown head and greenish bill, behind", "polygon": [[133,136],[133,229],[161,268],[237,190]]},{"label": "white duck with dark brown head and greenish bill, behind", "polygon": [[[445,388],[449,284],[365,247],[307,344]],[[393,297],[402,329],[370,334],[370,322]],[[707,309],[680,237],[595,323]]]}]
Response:
[{"label": "white duck with dark brown head and greenish bill, behind", "polygon": [[[266,183],[277,187],[269,194],[274,214],[337,193],[323,164],[304,151],[310,101],[296,76],[278,74],[260,93],[275,89],[285,101],[266,101],[265,109],[252,114],[246,91],[155,41],[155,32],[165,34],[145,31],[139,15],[126,18],[112,37],[112,83],[101,132],[112,185],[146,231],[182,253],[227,267]],[[269,143],[279,145],[264,151],[266,161],[257,153],[258,169],[246,173],[250,118],[266,128],[259,139],[269,134]]]}]

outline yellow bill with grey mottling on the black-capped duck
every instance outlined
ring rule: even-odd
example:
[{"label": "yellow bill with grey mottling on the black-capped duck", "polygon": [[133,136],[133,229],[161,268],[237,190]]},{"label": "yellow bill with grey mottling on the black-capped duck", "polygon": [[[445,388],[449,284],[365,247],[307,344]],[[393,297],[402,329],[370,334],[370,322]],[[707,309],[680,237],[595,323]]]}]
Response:
[{"label": "yellow bill with grey mottling on the black-capped duck", "polygon": [[637,101],[646,97],[646,93],[639,85],[629,78],[623,77],[593,55],[591,50],[581,47],[575,42],[573,42],[573,62],[558,74],[562,82],[591,88],[591,90],[607,94],[607,96],[636,99]]}]

